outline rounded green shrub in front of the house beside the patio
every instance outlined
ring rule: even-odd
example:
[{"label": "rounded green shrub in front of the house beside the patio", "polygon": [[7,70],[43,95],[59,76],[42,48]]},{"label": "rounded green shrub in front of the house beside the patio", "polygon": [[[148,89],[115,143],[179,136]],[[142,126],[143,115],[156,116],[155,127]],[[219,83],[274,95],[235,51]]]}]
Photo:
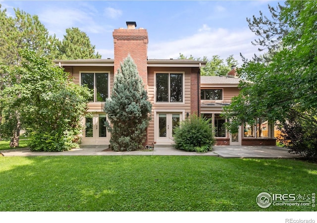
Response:
[{"label": "rounded green shrub in front of the house beside the patio", "polygon": [[191,115],[180,122],[174,132],[174,147],[189,152],[207,152],[212,150],[214,135],[209,120]]}]

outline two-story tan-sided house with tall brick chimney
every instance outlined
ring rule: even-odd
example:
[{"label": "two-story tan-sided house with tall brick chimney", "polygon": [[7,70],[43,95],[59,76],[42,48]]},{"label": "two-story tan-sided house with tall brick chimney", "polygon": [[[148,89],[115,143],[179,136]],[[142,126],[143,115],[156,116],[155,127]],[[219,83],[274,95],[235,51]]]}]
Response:
[{"label": "two-story tan-sided house with tall brick chimney", "polygon": [[[238,94],[238,79],[201,77],[200,69],[206,65],[206,61],[149,59],[147,30],[137,29],[136,22],[126,22],[126,24],[127,28],[115,29],[112,33],[113,59],[54,60],[56,65],[63,67],[69,73],[75,83],[86,84],[94,90],[94,96],[88,103],[89,115],[83,117],[85,129],[82,144],[109,144],[110,135],[104,125],[107,120],[104,105],[106,98],[111,97],[115,73],[128,55],[137,65],[152,104],[152,120],[147,128],[146,145],[173,144],[174,128],[193,113],[202,113],[217,122],[218,144],[235,144],[229,133],[221,127],[224,120],[221,120],[218,114],[221,113],[222,106],[229,103],[233,95]],[[232,83],[230,81],[220,83],[224,80],[231,80]],[[207,99],[207,95],[210,94],[209,89],[213,89],[211,91],[213,100]],[[217,91],[218,89],[221,91]],[[211,104],[215,105],[212,107]],[[222,137],[223,132],[224,137]]]}]

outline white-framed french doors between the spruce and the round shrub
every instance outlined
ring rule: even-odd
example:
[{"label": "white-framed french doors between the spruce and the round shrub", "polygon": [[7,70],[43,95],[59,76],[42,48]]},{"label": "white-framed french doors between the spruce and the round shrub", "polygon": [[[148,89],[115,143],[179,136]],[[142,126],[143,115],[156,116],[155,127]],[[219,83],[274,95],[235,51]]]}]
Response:
[{"label": "white-framed french doors between the spruce and the round shrub", "polygon": [[181,120],[182,113],[157,113],[157,142],[171,144],[175,128]]}]

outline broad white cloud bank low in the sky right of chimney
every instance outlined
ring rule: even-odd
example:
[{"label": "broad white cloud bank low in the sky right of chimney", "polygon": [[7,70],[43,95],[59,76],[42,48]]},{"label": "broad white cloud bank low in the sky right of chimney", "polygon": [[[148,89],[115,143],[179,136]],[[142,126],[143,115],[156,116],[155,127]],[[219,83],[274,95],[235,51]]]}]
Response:
[{"label": "broad white cloud bank low in the sky right of chimney", "polygon": [[[247,58],[258,54],[258,47],[251,44],[255,39],[254,34],[248,29],[228,30],[228,29],[208,29],[203,25],[204,32],[198,32],[192,36],[169,42],[149,43],[148,56],[151,59],[177,58],[179,53],[185,56],[194,57],[207,56],[209,59],[213,55],[219,55],[225,59],[233,55],[242,64],[240,53]],[[200,31],[200,30],[199,30]]]}]

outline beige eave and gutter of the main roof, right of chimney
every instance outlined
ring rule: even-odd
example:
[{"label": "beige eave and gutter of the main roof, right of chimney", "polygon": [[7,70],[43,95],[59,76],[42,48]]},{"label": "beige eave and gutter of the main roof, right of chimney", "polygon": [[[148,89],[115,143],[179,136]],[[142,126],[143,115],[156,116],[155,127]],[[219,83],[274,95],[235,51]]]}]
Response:
[{"label": "beige eave and gutter of the main roof, right of chimney", "polygon": [[205,67],[207,61],[186,59],[148,59],[148,66]]}]

